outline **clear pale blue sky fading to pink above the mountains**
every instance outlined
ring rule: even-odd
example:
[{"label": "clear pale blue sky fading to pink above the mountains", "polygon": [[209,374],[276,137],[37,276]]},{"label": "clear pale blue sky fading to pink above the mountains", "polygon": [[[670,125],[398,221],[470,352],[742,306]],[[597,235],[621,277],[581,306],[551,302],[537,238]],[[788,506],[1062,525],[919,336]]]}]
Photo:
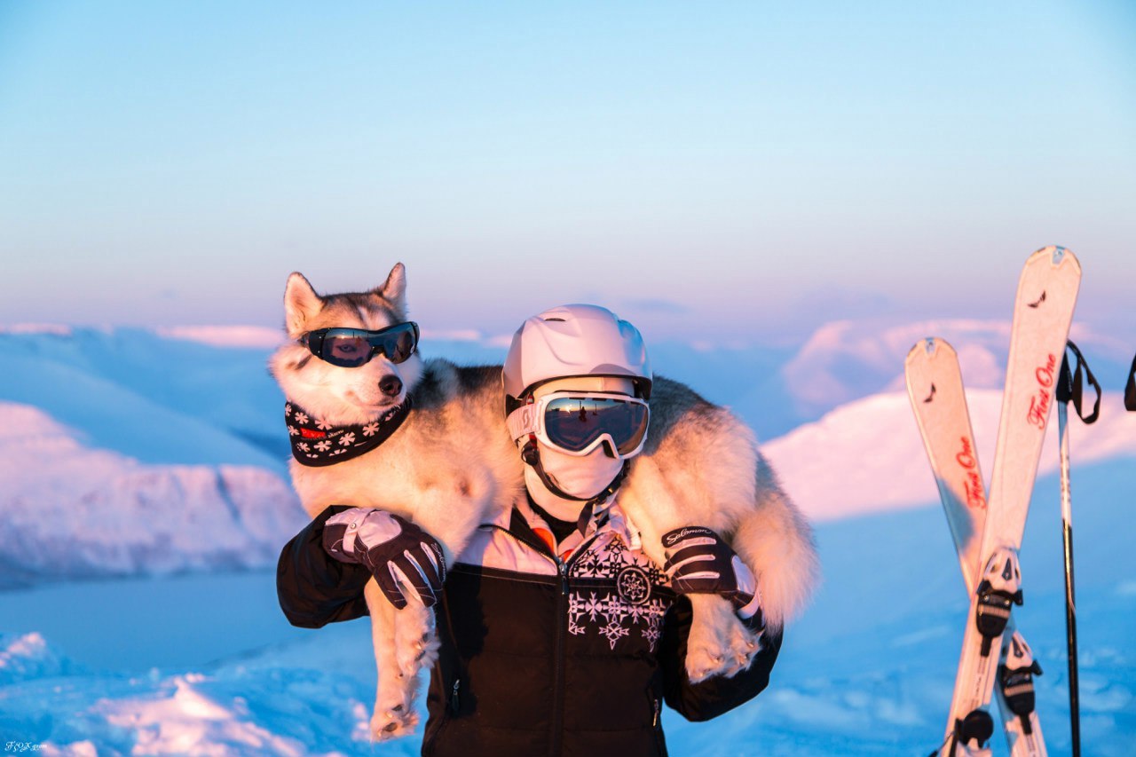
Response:
[{"label": "clear pale blue sky fading to pink above the mountains", "polygon": [[1136,336],[1136,7],[0,3],[0,324],[435,330],[567,301],[651,338],[1008,317],[1064,244]]}]

